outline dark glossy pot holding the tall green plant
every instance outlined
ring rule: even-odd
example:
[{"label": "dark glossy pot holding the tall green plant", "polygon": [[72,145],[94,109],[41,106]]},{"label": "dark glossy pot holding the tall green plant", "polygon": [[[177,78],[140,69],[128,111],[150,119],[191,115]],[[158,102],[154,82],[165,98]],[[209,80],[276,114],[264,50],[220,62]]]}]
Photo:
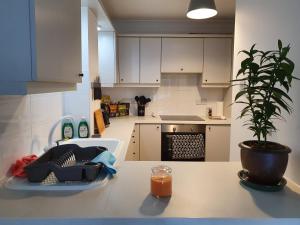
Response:
[{"label": "dark glossy pot holding the tall green plant", "polygon": [[249,181],[261,185],[277,185],[281,181],[291,152],[289,147],[275,142],[258,145],[257,141],[244,141],[239,147],[242,166],[249,173]]}]

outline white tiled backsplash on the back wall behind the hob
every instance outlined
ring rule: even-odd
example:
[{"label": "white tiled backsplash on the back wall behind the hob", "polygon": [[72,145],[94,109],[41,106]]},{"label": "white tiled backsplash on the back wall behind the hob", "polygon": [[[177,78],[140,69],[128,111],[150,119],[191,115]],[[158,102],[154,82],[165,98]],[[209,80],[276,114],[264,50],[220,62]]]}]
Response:
[{"label": "white tiled backsplash on the back wall behind the hob", "polygon": [[136,115],[136,95],[151,98],[146,106],[146,115],[185,114],[207,115],[208,107],[216,107],[215,102],[224,100],[224,89],[201,88],[201,75],[164,74],[159,88],[103,88],[104,95],[113,101],[130,102],[130,113]]}]

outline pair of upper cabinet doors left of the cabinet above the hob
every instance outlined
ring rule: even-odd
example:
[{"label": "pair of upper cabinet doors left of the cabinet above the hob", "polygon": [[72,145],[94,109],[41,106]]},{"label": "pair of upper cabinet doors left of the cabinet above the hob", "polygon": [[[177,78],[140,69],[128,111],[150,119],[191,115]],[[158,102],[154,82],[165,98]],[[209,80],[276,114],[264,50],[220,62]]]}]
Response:
[{"label": "pair of upper cabinet doors left of the cabinet above the hob", "polygon": [[160,83],[161,38],[118,37],[121,84]]}]

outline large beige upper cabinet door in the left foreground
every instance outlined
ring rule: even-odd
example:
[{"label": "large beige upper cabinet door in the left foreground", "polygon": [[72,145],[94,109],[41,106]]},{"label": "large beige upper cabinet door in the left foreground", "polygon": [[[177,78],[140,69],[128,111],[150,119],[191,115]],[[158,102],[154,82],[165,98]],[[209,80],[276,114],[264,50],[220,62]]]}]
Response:
[{"label": "large beige upper cabinet door in the left foreground", "polygon": [[81,1],[35,0],[34,81],[81,81]]}]

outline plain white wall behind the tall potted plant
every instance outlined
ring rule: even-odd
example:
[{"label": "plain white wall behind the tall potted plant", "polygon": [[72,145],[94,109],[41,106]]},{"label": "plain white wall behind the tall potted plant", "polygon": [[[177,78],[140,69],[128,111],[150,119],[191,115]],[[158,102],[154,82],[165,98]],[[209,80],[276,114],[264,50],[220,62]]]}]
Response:
[{"label": "plain white wall behind the tall potted plant", "polygon": [[[299,0],[237,0],[235,18],[234,76],[240,68],[241,56],[238,51],[249,49],[257,43],[257,48],[274,49],[277,39],[291,44],[290,57],[296,64],[295,75],[300,76],[300,1]],[[291,147],[292,154],[287,176],[300,183],[300,82],[293,83],[290,95],[294,99],[294,113],[286,117],[286,122],[277,122],[279,132],[271,140]],[[233,95],[237,92],[234,88]],[[232,118],[241,110],[234,105]],[[231,136],[231,160],[239,160],[237,144],[251,139],[252,133],[242,127],[241,120],[233,120]]]}]

